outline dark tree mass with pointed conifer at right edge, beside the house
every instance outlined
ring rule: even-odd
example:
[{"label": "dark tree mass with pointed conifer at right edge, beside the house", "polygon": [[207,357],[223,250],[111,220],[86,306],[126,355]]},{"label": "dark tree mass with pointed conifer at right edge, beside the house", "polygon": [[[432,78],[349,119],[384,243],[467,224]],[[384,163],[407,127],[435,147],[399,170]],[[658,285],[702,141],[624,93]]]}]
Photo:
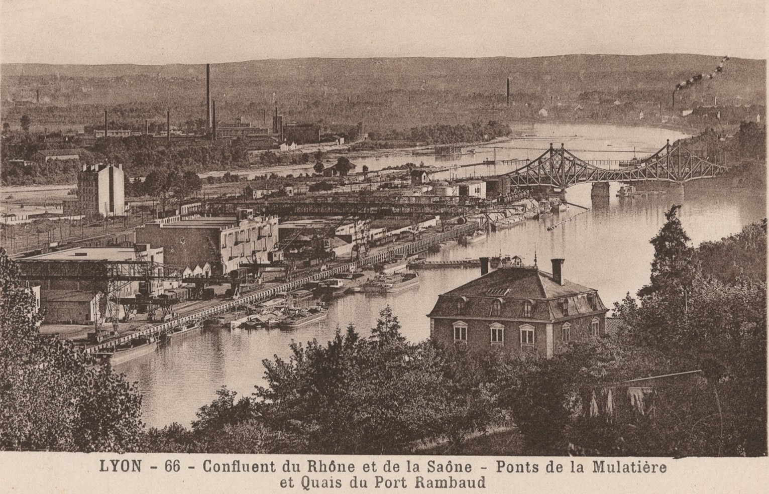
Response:
[{"label": "dark tree mass with pointed conifer at right edge, beside the house", "polygon": [[[707,393],[712,392],[717,400],[719,417],[717,433],[700,431],[700,436],[711,434],[711,447],[717,445],[719,454],[764,455],[766,281],[755,279],[754,274],[757,266],[766,265],[764,223],[747,225],[740,234],[703,244],[691,256],[681,242],[683,230],[663,230],[673,234],[661,246],[676,248],[660,249],[661,262],[653,264],[659,267],[657,279],[650,287],[656,286],[643,294],[640,304],[630,297],[617,304],[615,315],[628,326],[635,343],[661,352],[678,371],[703,371]],[[681,259],[688,259],[694,268],[675,262]],[[687,400],[697,403],[694,397]],[[675,406],[685,411],[687,403]],[[678,431],[686,424],[668,426],[667,434],[680,442],[676,447],[700,447],[697,437],[681,438]],[[698,454],[707,454],[703,451]]]}]

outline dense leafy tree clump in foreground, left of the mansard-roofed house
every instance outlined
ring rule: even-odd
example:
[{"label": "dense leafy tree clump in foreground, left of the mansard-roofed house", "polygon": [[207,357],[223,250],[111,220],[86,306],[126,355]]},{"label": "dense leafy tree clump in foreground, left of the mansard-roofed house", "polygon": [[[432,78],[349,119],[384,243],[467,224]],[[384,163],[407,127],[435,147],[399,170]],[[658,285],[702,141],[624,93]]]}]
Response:
[{"label": "dense leafy tree clump in foreground, left of the mansard-roofed house", "polygon": [[406,342],[389,308],[368,339],[351,326],[327,346],[291,350],[288,360],[264,361],[268,385],[257,386],[256,406],[267,426],[301,438],[303,452],[406,451],[451,422],[451,386],[437,351]]}]

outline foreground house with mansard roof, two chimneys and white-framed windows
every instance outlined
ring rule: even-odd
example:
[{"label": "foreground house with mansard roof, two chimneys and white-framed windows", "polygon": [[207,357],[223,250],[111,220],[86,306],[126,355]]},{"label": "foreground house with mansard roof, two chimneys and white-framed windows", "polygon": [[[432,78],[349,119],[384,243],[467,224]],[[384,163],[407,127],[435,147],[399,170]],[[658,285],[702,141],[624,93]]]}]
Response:
[{"label": "foreground house with mansard roof, two chimneys and white-framed windows", "polygon": [[596,290],[564,278],[563,259],[551,261],[552,273],[518,257],[489,273],[488,261],[481,258],[481,277],[438,297],[431,339],[551,358],[569,341],[605,334],[608,309]]}]

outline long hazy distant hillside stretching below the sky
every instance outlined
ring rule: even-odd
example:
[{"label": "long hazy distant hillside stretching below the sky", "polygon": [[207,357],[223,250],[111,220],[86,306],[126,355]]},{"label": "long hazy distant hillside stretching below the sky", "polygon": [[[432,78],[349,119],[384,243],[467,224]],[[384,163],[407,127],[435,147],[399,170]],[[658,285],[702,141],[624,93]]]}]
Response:
[{"label": "long hazy distant hillside stretching below the sky", "polygon": [[[664,108],[674,86],[710,73],[721,56],[563,55],[538,58],[296,58],[211,65],[211,94],[221,118],[245,116],[261,124],[273,101],[287,120],[354,123],[367,128],[434,121],[473,121],[498,115],[505,80],[515,105],[555,106],[614,101]],[[732,58],[724,72],[680,91],[682,104],[764,105],[766,61]],[[101,108],[118,121],[200,118],[205,108],[204,65],[3,64],[3,118],[18,121],[8,100],[35,101],[36,122],[92,124]],[[526,111],[511,110],[511,118]],[[517,112],[517,113],[516,113]],[[500,115],[498,115],[499,117]],[[504,114],[501,115],[504,118]]]}]

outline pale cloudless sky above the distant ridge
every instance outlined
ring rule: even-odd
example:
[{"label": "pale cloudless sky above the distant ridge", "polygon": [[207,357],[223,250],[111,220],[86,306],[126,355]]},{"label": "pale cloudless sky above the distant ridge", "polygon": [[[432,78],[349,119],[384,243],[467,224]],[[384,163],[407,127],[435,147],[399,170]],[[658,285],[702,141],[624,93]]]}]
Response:
[{"label": "pale cloudless sky above the distant ridge", "polygon": [[764,0],[0,0],[0,61],[766,57]]}]

